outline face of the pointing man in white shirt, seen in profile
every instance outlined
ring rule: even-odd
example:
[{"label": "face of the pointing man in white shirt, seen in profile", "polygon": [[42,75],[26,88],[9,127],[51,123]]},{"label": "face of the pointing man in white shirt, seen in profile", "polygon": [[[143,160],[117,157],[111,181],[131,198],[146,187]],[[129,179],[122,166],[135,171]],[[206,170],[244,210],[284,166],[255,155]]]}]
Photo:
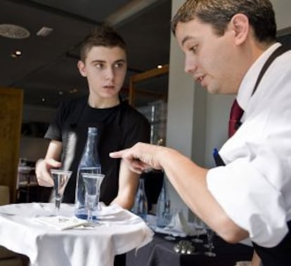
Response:
[{"label": "face of the pointing man in white shirt, seen in profile", "polygon": [[[195,19],[179,22],[176,39],[185,54],[185,72],[209,93],[232,94],[238,91],[241,77],[235,73],[235,33],[226,29],[223,36],[211,25]],[[235,71],[233,71],[235,70]]]}]

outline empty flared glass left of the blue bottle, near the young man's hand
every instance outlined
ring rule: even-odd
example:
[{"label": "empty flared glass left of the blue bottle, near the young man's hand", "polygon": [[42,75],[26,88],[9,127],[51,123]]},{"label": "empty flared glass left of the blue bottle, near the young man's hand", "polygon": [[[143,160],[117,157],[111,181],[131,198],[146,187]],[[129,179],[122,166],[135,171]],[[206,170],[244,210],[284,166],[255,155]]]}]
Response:
[{"label": "empty flared glass left of the blue bottle, near the young man's hand", "polygon": [[72,175],[72,171],[65,171],[61,169],[51,169],[51,178],[53,178],[53,188],[55,191],[56,215],[59,215],[60,213],[60,202],[63,199],[65,187],[71,175]]}]

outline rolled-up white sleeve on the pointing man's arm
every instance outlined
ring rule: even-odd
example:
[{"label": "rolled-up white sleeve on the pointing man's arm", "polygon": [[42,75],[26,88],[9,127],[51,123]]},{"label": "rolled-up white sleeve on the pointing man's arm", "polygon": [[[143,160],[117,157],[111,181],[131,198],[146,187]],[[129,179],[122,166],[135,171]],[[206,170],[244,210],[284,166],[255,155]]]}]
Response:
[{"label": "rolled-up white sleeve on the pointing man's arm", "polygon": [[245,156],[207,173],[207,186],[229,218],[249,232],[252,241],[273,247],[288,232],[283,191],[291,189],[287,173],[290,159],[280,157],[270,146],[246,146]]}]

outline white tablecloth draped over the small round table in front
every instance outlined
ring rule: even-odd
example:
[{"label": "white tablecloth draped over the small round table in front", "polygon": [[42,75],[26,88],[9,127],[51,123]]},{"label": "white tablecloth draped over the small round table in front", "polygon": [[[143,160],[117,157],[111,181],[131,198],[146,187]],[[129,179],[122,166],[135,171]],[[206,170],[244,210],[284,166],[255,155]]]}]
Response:
[{"label": "white tablecloth draped over the small round table in front", "polygon": [[[0,206],[0,245],[30,258],[33,266],[111,266],[114,256],[148,244],[153,232],[138,216],[119,206],[103,207],[94,229],[56,230],[37,222],[53,214],[53,204]],[[60,215],[74,206],[61,204]]]}]

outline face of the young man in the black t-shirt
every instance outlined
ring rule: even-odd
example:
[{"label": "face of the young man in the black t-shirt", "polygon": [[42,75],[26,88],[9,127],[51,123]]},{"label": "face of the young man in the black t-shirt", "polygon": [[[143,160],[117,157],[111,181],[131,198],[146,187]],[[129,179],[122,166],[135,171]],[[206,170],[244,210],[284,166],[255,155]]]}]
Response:
[{"label": "face of the young man in the black t-shirt", "polygon": [[100,100],[118,98],[127,72],[127,57],[122,48],[93,46],[79,72],[86,77],[91,97]]}]

